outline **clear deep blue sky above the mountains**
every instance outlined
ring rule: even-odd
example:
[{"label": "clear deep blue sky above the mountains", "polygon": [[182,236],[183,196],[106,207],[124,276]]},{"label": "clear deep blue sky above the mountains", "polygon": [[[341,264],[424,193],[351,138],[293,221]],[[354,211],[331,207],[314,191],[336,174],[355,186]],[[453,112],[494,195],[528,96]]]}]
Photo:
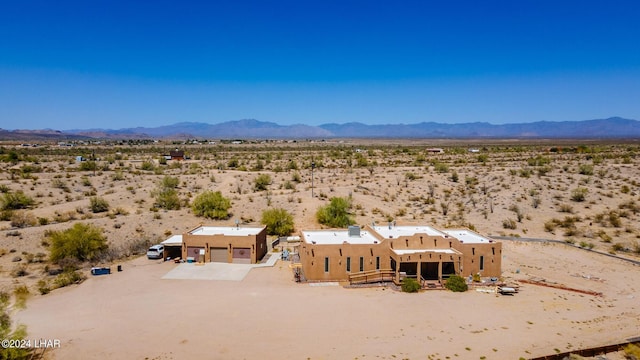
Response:
[{"label": "clear deep blue sky above the mountains", "polygon": [[4,1],[0,128],[640,119],[640,2]]}]

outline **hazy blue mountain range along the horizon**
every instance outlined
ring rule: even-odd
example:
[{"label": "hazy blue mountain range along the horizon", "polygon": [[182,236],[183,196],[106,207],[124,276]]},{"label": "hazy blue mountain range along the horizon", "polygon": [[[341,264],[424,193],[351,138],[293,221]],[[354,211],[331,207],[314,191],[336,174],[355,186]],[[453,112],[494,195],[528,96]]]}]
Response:
[{"label": "hazy blue mountain range along the horizon", "polygon": [[330,139],[330,138],[640,138],[640,121],[611,117],[607,119],[494,125],[486,122],[445,124],[367,125],[353,122],[319,126],[279,125],[253,119],[218,124],[181,122],[159,127],[136,127],[118,130],[77,129],[3,130],[0,139]]}]

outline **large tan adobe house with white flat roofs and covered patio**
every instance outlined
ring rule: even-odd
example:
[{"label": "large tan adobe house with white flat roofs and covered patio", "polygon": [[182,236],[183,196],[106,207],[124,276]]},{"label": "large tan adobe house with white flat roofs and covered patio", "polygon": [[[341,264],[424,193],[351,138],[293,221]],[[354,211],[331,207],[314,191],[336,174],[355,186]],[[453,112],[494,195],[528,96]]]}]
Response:
[{"label": "large tan adobe house with white flat roofs and covered patio", "polygon": [[456,274],[501,274],[502,244],[467,229],[366,226],[303,231],[299,249],[310,281],[446,280]]}]

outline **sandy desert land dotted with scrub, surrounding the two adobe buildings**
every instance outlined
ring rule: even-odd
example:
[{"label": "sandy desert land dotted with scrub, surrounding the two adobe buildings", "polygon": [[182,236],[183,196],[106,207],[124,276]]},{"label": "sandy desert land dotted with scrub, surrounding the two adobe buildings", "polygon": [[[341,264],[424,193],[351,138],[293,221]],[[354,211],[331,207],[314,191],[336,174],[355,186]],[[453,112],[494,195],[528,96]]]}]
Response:
[{"label": "sandy desert land dotted with scrub, surrounding the two adobe buildings", "polygon": [[[25,145],[0,147],[0,288],[29,337],[61,340],[47,358],[517,359],[640,335],[638,266],[618,259],[640,260],[637,141]],[[164,157],[176,150],[187,158]],[[227,218],[194,214],[208,190],[230,200]],[[316,211],[332,197],[351,200],[356,224],[515,239],[502,240],[504,280],[600,294],[526,282],[499,297],[311,286],[282,261],[239,282],[166,280],[176,265],[143,256],[199,224],[258,225],[269,208],[292,214],[295,231],[320,229]],[[101,229],[108,249],[52,262],[51,234],[77,223]],[[124,271],[89,275],[115,264]],[[67,265],[77,278],[60,280]]]}]

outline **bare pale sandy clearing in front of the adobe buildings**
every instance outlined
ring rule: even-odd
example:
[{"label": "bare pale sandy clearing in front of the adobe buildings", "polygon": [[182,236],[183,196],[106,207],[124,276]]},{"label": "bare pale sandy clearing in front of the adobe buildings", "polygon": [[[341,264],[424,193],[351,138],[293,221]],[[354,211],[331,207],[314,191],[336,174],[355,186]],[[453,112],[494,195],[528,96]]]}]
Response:
[{"label": "bare pale sandy clearing in front of the adobe buildings", "polygon": [[603,295],[310,286],[280,261],[242,281],[163,280],[175,264],[138,258],[30,300],[16,320],[60,339],[55,359],[517,359],[640,334],[637,266],[567,245],[505,241],[504,254],[508,279]]}]

